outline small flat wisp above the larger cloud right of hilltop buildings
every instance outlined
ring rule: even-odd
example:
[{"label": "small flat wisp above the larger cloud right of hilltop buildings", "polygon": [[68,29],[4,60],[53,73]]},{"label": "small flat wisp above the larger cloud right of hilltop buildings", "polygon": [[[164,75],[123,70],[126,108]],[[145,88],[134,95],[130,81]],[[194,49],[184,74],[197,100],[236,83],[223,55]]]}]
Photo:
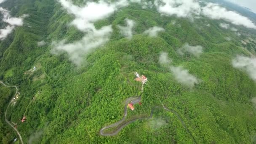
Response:
[{"label": "small flat wisp above the larger cloud right of hilltop buildings", "polygon": [[185,45],[178,50],[178,53],[181,55],[184,55],[184,52],[188,52],[193,56],[199,57],[203,53],[203,47],[200,45],[191,46],[188,43],[185,43]]}]

